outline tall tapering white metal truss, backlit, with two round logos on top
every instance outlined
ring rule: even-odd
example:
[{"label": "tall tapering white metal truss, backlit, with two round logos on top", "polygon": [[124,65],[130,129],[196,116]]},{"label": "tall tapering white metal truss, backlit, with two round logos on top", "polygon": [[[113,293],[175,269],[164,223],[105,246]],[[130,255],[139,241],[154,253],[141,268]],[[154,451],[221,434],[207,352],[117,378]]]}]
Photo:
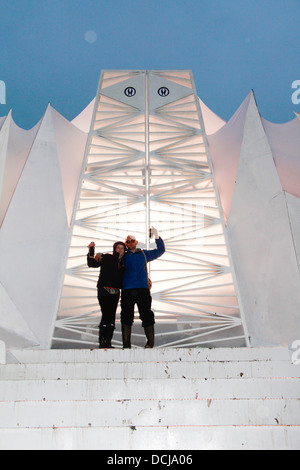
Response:
[{"label": "tall tapering white metal truss, backlit, with two round logos on top", "polygon": [[[152,248],[151,225],[166,244],[149,266],[157,347],[247,345],[192,73],[104,71],[53,345],[97,345],[99,272],[86,265],[90,241],[111,252],[133,234]],[[139,320],[133,344],[144,344]]]}]

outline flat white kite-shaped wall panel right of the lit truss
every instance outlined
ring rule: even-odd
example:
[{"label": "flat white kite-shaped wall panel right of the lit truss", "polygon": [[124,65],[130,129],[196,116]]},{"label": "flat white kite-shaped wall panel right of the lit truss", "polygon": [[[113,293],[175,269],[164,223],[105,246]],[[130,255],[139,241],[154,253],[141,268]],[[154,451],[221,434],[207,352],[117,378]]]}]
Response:
[{"label": "flat white kite-shaped wall panel right of the lit truss", "polygon": [[228,221],[252,345],[289,345],[300,332],[300,280],[285,195],[254,96]]}]

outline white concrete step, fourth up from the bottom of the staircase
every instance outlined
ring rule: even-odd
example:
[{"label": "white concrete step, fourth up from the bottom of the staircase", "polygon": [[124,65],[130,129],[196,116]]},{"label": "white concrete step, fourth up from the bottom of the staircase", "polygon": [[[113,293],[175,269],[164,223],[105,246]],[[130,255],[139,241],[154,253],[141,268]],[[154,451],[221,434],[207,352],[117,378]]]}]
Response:
[{"label": "white concrete step, fourth up from the bottom of the staircase", "polygon": [[286,361],[93,362],[0,365],[2,380],[206,379],[300,377],[300,365]]}]

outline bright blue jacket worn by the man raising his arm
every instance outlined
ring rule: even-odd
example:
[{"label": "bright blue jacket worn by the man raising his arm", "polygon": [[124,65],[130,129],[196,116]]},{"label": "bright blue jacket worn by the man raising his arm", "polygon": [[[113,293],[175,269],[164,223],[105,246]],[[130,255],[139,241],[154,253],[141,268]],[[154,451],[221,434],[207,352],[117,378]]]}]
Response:
[{"label": "bright blue jacket worn by the man raising his arm", "polygon": [[125,274],[123,278],[123,290],[141,289],[148,287],[146,260],[153,261],[165,252],[165,244],[161,238],[155,240],[155,250],[137,250],[135,253],[127,251],[124,259]]}]

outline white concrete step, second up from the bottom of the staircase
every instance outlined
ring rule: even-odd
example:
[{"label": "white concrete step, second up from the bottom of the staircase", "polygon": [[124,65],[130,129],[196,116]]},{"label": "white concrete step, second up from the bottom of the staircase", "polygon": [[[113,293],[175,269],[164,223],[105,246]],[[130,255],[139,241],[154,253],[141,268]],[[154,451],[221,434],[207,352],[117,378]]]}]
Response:
[{"label": "white concrete step, second up from the bottom of the staircase", "polygon": [[0,428],[297,426],[298,399],[0,402]]}]

